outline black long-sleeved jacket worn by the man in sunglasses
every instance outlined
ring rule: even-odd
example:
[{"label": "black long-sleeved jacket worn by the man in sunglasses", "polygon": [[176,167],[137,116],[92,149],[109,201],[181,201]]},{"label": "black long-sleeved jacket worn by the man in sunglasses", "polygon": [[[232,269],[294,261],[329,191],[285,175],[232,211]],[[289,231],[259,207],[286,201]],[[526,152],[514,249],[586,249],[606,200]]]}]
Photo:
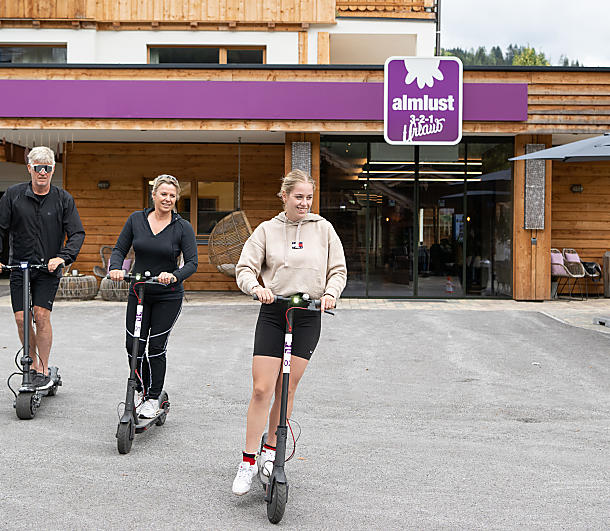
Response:
[{"label": "black long-sleeved jacket worn by the man in sunglasses", "polygon": [[[48,262],[55,257],[69,265],[85,240],[74,198],[53,185],[48,194],[36,195],[31,182],[11,186],[0,199],[0,252],[7,232],[12,265]],[[60,271],[58,268],[57,274]]]}]

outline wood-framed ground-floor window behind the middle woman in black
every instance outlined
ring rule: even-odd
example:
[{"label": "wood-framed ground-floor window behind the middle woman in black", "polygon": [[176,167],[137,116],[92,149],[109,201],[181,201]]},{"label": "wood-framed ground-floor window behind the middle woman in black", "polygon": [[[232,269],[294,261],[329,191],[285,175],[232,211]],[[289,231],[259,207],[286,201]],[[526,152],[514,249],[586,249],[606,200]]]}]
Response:
[{"label": "wood-framed ground-floor window behind the middle woman in black", "polygon": [[[147,206],[152,207],[152,183],[147,180]],[[222,218],[236,210],[237,183],[233,181],[180,180],[182,192],[176,203],[180,216],[190,221],[197,236],[203,240]],[[197,201],[192,191],[197,190]]]}]

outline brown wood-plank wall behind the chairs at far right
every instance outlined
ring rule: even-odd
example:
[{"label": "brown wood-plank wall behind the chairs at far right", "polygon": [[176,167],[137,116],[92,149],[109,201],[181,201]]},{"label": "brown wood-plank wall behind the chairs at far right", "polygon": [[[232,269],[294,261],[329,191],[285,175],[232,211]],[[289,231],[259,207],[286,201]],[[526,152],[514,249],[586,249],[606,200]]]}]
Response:
[{"label": "brown wood-plank wall behind the chairs at far right", "polygon": [[[570,190],[574,184],[582,193]],[[610,251],[610,162],[553,162],[552,209],[551,247],[575,249],[581,260],[601,265]],[[601,283],[588,289],[603,293]]]}]

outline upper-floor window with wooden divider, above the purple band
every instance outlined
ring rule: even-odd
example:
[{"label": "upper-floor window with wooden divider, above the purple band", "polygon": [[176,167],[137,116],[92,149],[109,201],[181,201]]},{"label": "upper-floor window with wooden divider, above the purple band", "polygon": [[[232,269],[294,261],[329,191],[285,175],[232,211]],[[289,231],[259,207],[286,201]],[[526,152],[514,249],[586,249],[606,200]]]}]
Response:
[{"label": "upper-floor window with wooden divider, above the purple band", "polygon": [[149,64],[264,64],[264,46],[149,46]]}]

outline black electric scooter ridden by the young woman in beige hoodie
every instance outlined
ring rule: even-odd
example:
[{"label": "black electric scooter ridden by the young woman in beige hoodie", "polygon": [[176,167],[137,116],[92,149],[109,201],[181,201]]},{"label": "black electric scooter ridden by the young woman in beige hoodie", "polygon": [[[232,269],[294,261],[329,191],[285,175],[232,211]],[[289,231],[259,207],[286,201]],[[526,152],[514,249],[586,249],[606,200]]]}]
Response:
[{"label": "black electric scooter ridden by the young woman in beige hoodie", "polygon": [[[254,300],[258,300],[256,295],[253,295]],[[286,439],[288,436],[288,426],[286,413],[288,409],[288,385],[290,382],[290,361],[292,358],[292,328],[294,324],[294,310],[308,310],[317,312],[320,311],[320,300],[310,299],[307,294],[293,295],[292,297],[282,297],[276,295],[274,302],[286,302],[286,335],[284,339],[284,359],[282,361],[282,396],[280,402],[280,420],[275,432],[277,436],[275,461],[273,469],[269,470],[265,467],[261,473],[265,476],[269,475],[269,482],[263,488],[265,489],[265,501],[267,502],[267,518],[272,524],[280,522],[284,516],[286,503],[288,502],[288,479],[284,465],[286,463]],[[334,315],[333,312],[326,310],[326,313]],[[267,434],[264,433],[261,439],[261,452],[263,445],[267,442]],[[260,477],[260,476],[259,476]]]}]

